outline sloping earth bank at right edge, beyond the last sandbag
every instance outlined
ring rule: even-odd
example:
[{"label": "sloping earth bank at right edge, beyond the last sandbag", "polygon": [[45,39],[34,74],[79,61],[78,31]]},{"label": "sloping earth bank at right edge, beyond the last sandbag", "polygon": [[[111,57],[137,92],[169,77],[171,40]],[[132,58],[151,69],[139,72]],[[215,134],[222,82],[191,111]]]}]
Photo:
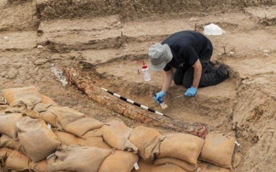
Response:
[{"label": "sloping earth bank at right edge, beyond the last sandbag", "polygon": [[[245,79],[233,115],[237,136],[252,143],[245,156],[245,171],[271,171],[276,159],[276,75]],[[248,101],[250,100],[250,101]]]}]

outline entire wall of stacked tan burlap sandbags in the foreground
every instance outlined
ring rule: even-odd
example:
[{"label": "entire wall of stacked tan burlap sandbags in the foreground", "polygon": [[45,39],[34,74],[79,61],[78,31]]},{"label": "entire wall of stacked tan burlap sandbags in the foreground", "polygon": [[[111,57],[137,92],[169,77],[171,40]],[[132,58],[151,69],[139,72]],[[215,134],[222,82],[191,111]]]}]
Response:
[{"label": "entire wall of stacked tan burlap sandbags in the foreground", "polygon": [[[0,159],[5,170],[194,172],[198,159],[231,168],[231,136],[225,140],[209,133],[204,142],[190,134],[128,128],[120,120],[103,124],[57,106],[34,87],[6,89],[4,98],[8,105],[0,104]],[[220,148],[224,152],[217,157]],[[11,158],[21,165],[10,163]]]}]

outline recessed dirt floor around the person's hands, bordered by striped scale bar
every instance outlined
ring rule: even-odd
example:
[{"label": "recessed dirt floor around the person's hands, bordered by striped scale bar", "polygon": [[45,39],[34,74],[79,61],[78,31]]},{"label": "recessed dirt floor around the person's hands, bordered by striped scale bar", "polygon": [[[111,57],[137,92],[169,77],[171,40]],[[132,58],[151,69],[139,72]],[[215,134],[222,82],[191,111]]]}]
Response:
[{"label": "recessed dirt floor around the person's hands, bordered by striped scale bar", "polygon": [[[148,60],[146,61],[149,64]],[[138,70],[141,70],[140,68],[141,65],[137,64],[136,60],[124,60],[99,65],[96,68],[96,72],[107,73],[108,75],[118,77],[118,79],[110,82],[99,82],[99,85],[107,87],[108,89],[118,92],[125,97],[136,100],[146,106],[163,112],[152,98],[153,92],[161,89],[163,72],[151,72],[152,80],[145,82],[143,81],[142,74],[138,73]],[[124,83],[121,84],[122,87],[114,87],[114,85],[120,85],[120,83]],[[183,86],[176,86],[174,84],[171,86],[168,96],[164,99],[170,108],[163,113],[176,119],[188,122],[206,123],[212,126],[216,126],[222,119],[215,116],[215,114],[202,114],[202,109],[208,111],[208,106],[205,106],[203,102],[208,102],[211,99],[213,99],[213,101],[217,100],[221,102],[226,99],[233,100],[236,95],[235,84],[232,80],[228,80],[217,86],[199,89],[199,93],[197,94],[198,100],[193,102],[189,101],[188,98],[185,97],[174,99],[174,97],[182,95],[184,90],[185,88]],[[192,103],[193,107],[188,105],[189,103]],[[213,110],[215,111],[215,109]]]}]

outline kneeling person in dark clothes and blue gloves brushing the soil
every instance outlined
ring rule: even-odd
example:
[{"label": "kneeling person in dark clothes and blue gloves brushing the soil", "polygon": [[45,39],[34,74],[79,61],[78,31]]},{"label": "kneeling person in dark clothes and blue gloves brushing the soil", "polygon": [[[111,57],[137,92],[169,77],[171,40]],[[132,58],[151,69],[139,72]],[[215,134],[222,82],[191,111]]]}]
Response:
[{"label": "kneeling person in dark clothes and blue gloves brushing the soil", "polygon": [[172,80],[187,88],[185,96],[194,97],[199,87],[213,86],[228,78],[226,66],[215,68],[210,61],[212,54],[211,41],[195,31],[177,32],[162,43],[152,45],[149,49],[151,69],[165,71],[162,91],[154,100],[158,103],[163,100]]}]

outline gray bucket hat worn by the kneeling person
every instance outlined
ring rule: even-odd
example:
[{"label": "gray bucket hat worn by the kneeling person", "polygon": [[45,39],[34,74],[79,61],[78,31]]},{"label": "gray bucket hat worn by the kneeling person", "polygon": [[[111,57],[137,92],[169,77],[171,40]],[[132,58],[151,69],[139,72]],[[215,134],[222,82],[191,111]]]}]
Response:
[{"label": "gray bucket hat worn by the kneeling person", "polygon": [[168,44],[162,45],[155,43],[149,49],[149,57],[151,60],[151,70],[159,71],[171,61],[172,54]]}]

